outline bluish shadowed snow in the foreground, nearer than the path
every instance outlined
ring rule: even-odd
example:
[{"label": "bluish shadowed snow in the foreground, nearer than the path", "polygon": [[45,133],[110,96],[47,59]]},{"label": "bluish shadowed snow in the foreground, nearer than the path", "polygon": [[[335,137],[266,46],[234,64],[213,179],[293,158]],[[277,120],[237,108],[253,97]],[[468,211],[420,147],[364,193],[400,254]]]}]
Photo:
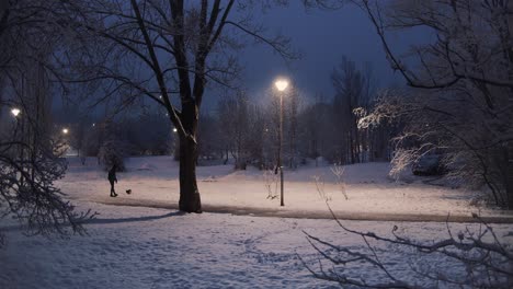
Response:
[{"label": "bluish shadowed snow in the foreground, nearer than the path", "polygon": [[[361,238],[343,232],[332,220],[94,208],[100,216],[87,226],[87,236],[46,240],[11,230],[7,247],[0,251],[0,288],[331,288],[335,285],[312,278],[298,258],[312,266],[319,258],[301,230],[338,245],[364,247]],[[395,224],[344,223],[388,235]],[[447,236],[443,223],[396,224],[406,235],[423,241]],[[452,224],[454,231],[464,227]],[[513,242],[511,226],[498,224],[495,231],[504,242]],[[394,250],[380,257],[391,267],[402,264],[396,269],[402,279],[421,281],[404,266],[425,259]],[[437,258],[428,263],[445,273],[458,269]],[[367,280],[376,277],[368,267],[353,269]]]}]

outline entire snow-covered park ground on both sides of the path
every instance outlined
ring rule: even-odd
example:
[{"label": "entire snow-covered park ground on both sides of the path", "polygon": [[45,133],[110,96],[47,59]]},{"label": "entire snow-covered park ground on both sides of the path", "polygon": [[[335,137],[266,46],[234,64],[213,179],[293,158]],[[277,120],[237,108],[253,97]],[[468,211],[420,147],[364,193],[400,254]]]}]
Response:
[{"label": "entire snow-covered park ground on both sides of the path", "polygon": [[[216,208],[247,208],[248,216],[207,212],[183,215],[175,209],[148,208],[178,203],[178,166],[169,158],[137,158],[128,161],[128,172],[118,174],[117,198],[109,197],[106,173],[94,160],[82,166],[70,160],[67,176],[58,185],[79,209],[91,208],[99,215],[86,224],[88,235],[69,240],[26,238],[10,220],[5,247],[0,250],[0,288],[331,288],[335,284],[312,278],[299,256],[318,266],[319,255],[304,233],[321,236],[337,245],[364,248],[362,238],[350,234],[330,219],[260,217],[262,211],[290,216],[322,217],[326,203],[319,196],[312,176],[324,181],[324,196],[342,215],[414,215],[444,217],[468,216],[479,208],[469,206],[466,192],[425,185],[423,178],[408,183],[387,177],[385,163],[352,165],[345,169],[345,194],[335,184],[329,166],[303,167],[286,172],[286,206],[267,199],[262,172],[233,172],[231,166],[198,167],[202,200]],[[132,188],[133,194],[122,192]],[[112,206],[102,203],[117,203]],[[140,207],[133,207],[139,204]],[[273,210],[271,210],[273,209]],[[499,211],[486,211],[489,216]],[[343,221],[352,229],[390,235],[395,224],[399,233],[431,242],[447,238],[443,222]],[[479,224],[451,223],[453,232]],[[494,224],[505,244],[513,243],[513,226]],[[463,268],[444,264],[440,257],[419,259],[412,252],[376,244],[384,263],[404,280],[434,284],[415,275],[410,265],[429,264],[441,271],[459,274]],[[324,266],[331,266],[324,264]],[[351,269],[351,268],[350,268]],[[378,275],[368,267],[352,268],[373,280]]]}]

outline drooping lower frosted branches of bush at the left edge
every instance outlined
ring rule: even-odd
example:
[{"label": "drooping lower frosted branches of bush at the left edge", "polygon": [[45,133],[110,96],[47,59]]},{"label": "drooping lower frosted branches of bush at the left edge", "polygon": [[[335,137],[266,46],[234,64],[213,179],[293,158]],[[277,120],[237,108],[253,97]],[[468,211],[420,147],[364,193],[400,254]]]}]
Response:
[{"label": "drooping lower frosted branches of bush at the left edge", "polygon": [[[83,233],[82,222],[91,215],[77,212],[54,184],[64,177],[66,160],[54,155],[46,139],[35,143],[11,139],[15,140],[0,135],[0,219],[15,219],[29,235]],[[0,230],[0,247],[3,241]]]}]

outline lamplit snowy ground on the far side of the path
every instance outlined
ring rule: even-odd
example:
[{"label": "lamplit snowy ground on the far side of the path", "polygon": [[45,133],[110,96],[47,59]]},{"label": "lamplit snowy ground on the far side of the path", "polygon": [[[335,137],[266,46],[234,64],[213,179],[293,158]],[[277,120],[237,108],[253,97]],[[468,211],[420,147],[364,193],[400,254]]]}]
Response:
[{"label": "lamplit snowy ground on the far side of the path", "polygon": [[[99,169],[95,159],[82,166],[78,159],[69,159],[69,172],[58,183],[71,199],[115,204],[146,204],[148,206],[176,206],[179,200],[179,167],[170,157],[132,158],[126,173],[118,173],[116,188],[119,197],[109,197],[106,173]],[[243,212],[265,210],[278,216],[329,217],[324,199],[331,208],[345,218],[375,219],[373,215],[483,216],[500,215],[500,211],[470,206],[474,192],[426,185],[425,177],[410,176],[408,183],[388,176],[388,163],[364,163],[344,167],[342,180],[345,195],[337,184],[331,166],[303,166],[285,171],[285,207],[280,199],[267,198],[271,185],[273,194],[280,194],[276,175],[264,174],[249,166],[247,171],[233,172],[232,165],[198,166],[197,178],[202,203],[208,208],[232,207]],[[318,177],[316,185],[315,177]],[[271,178],[274,178],[270,182]],[[275,181],[275,182],[273,182]],[[317,186],[323,190],[319,194]],[[124,192],[132,189],[133,194]],[[347,199],[345,198],[347,196]],[[216,210],[214,210],[216,211]],[[369,217],[369,218],[363,218]],[[400,218],[399,218],[400,219]],[[430,219],[430,218],[428,218]],[[394,219],[395,220],[395,219]]]}]

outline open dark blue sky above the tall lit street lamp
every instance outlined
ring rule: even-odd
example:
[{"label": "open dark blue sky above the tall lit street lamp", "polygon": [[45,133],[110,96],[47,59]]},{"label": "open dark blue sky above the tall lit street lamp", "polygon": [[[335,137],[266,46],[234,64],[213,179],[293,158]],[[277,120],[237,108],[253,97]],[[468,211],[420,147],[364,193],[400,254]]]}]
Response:
[{"label": "open dark blue sky above the tall lit street lamp", "polygon": [[[244,82],[253,97],[264,93],[277,76],[293,79],[306,97],[317,93],[331,97],[334,91],[330,74],[344,55],[357,65],[371,62],[378,88],[403,83],[399,73],[390,69],[374,26],[357,7],[305,11],[301,1],[290,2],[288,7],[273,8],[255,19],[261,16],[269,34],[281,32],[289,36],[303,58],[287,66],[269,46],[248,45],[240,60],[246,65]],[[401,33],[401,37],[389,36],[396,50],[406,51],[408,44],[424,42],[426,34],[410,32]]]}]

